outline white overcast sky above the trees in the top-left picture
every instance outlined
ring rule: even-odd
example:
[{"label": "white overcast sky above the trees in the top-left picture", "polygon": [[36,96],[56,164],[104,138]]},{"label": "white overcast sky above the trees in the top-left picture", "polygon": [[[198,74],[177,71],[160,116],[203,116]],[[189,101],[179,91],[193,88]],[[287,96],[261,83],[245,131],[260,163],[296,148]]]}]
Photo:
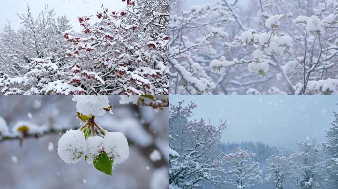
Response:
[{"label": "white overcast sky above the trees in the top-left picture", "polygon": [[[110,10],[122,10],[126,3],[121,0],[1,0],[0,5],[0,28],[11,22],[13,29],[20,27],[20,19],[17,13],[26,13],[27,3],[30,5],[31,13],[37,16],[45,5],[54,8],[56,15],[66,15],[75,30],[80,30],[78,17],[84,15],[96,15],[102,10],[101,5]],[[102,11],[101,11],[102,12]]]}]

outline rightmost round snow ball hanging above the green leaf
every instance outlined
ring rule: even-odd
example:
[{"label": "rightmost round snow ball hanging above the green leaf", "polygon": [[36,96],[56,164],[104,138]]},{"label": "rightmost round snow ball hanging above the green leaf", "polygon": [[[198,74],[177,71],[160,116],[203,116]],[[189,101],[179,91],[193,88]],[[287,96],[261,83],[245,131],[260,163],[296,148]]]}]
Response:
[{"label": "rightmost round snow ball hanging above the green leaf", "polygon": [[107,132],[102,146],[114,163],[122,163],[129,157],[128,141],[121,132]]}]

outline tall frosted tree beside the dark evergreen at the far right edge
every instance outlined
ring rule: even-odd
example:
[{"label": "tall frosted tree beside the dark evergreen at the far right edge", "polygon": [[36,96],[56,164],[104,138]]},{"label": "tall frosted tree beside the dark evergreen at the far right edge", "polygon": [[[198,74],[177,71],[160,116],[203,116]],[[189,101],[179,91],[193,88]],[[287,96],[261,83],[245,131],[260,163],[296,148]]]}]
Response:
[{"label": "tall frosted tree beside the dark evergreen at the far right edge", "polygon": [[293,171],[295,185],[299,189],[320,188],[321,183],[318,177],[322,171],[322,162],[319,156],[319,144],[315,140],[311,143],[308,137],[298,144],[300,151],[291,155],[299,162],[295,164]]}]

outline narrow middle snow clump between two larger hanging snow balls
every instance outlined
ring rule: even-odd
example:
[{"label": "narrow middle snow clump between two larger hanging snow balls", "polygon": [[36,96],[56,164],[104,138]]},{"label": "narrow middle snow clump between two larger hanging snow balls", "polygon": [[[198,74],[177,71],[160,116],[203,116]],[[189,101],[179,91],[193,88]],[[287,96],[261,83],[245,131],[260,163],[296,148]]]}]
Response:
[{"label": "narrow middle snow clump between two larger hanging snow balls", "polygon": [[87,163],[93,164],[94,159],[100,154],[103,138],[100,136],[91,136],[87,138]]}]

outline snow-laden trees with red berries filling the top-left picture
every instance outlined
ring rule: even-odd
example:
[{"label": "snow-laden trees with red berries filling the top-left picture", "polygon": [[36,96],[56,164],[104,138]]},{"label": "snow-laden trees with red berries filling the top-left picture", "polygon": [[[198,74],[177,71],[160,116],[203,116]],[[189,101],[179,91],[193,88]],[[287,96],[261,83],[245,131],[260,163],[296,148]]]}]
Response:
[{"label": "snow-laden trees with red berries filling the top-left picture", "polygon": [[122,1],[122,11],[78,17],[81,32],[49,9],[20,15],[22,29],[1,35],[0,52],[11,52],[0,57],[1,93],[169,94],[169,1]]}]

